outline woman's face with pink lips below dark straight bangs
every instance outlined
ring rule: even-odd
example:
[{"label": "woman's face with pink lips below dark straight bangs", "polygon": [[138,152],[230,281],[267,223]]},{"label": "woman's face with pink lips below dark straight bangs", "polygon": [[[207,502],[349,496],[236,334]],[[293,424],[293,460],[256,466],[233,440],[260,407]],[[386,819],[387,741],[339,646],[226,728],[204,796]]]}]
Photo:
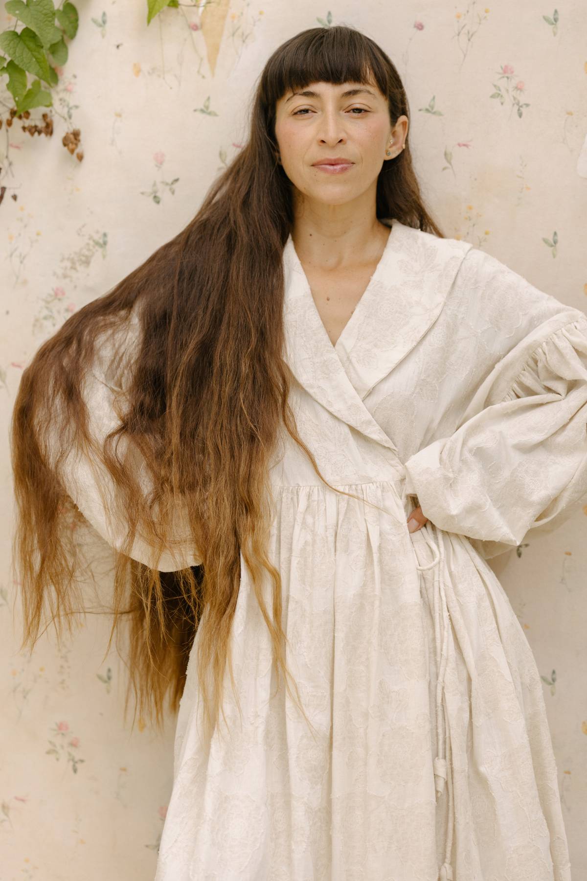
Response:
[{"label": "woman's face with pink lips below dark straight bangs", "polygon": [[[311,83],[283,95],[275,114],[285,174],[299,194],[330,205],[375,187],[384,160],[401,152],[407,134],[407,116],[400,116],[392,130],[387,99],[372,84]],[[337,157],[352,163],[347,171],[329,173],[315,165]]]}]

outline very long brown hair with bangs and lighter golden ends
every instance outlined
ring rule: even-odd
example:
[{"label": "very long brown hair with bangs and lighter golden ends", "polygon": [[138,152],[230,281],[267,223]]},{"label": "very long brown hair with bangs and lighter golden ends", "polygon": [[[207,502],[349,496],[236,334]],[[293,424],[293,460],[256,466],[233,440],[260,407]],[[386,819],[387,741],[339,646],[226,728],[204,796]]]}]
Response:
[{"label": "very long brown hair with bangs and lighter golden ends", "polygon": [[[291,184],[275,159],[275,104],[313,82],[370,79],[387,97],[392,125],[400,115],[409,119],[398,71],[354,28],[311,28],[275,49],[254,93],[248,142],[212,183],[195,217],[111,291],[71,315],[22,375],[11,425],[21,648],[33,648],[46,605],[58,636],[62,618],[70,626],[80,583],[71,526],[83,518],[65,491],[63,469],[68,450],[92,451],[121,491],[128,524],[115,556],[108,642],[119,621],[128,621],[125,714],[130,686],[135,714],[138,704],[139,714],[162,722],[168,691],[177,710],[200,627],[198,677],[209,730],[217,722],[227,661],[234,685],[229,636],[241,553],[271,635],[277,682],[282,670],[287,685],[282,585],[267,553],[268,463],[280,426],[319,471],[297,435],[282,356],[282,251],[293,217]],[[422,204],[409,143],[383,162],[377,216],[443,236]],[[126,364],[121,359],[120,425],[97,444],[83,378],[99,357],[98,341],[119,334],[135,314],[140,343],[136,352],[128,350]],[[136,478],[136,458],[117,454],[121,441],[143,456],[152,481],[148,498]],[[139,531],[163,549],[178,500],[202,566],[169,573],[131,559]],[[260,590],[263,573],[273,582],[272,616]],[[213,674],[211,703],[206,670]]]}]

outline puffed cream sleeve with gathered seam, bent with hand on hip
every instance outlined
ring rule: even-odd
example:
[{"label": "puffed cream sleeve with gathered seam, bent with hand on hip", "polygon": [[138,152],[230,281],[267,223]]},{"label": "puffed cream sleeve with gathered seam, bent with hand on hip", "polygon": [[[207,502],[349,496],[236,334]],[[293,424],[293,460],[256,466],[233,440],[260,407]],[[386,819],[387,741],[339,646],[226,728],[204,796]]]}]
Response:
[{"label": "puffed cream sleeve with gathered seam, bent with hand on hip", "polygon": [[587,500],[587,316],[561,306],[533,327],[405,467],[423,514],[485,558],[561,526]]}]

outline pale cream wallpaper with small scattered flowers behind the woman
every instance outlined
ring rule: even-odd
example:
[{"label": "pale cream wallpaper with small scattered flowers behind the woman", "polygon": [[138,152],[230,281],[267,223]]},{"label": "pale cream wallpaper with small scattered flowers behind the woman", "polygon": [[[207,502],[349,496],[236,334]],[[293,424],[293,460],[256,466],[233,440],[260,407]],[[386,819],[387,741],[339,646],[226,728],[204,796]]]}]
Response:
[{"label": "pale cream wallpaper with small scattered flowers behind the woman", "polygon": [[[41,342],[194,215],[245,142],[266,58],[308,27],[356,26],[396,63],[416,171],[444,233],[587,309],[584,4],[150,0],[149,23],[147,5],[79,4],[53,107],[12,119],[0,78],[4,426]],[[0,31],[15,24],[3,8]],[[125,670],[106,652],[102,615],[61,644],[49,628],[33,655],[19,651],[2,439],[0,881],[144,881],[171,792],[175,719],[163,734],[123,721]],[[586,518],[587,506],[493,564],[544,682],[576,881],[587,877]],[[108,553],[97,545],[95,559]]]}]

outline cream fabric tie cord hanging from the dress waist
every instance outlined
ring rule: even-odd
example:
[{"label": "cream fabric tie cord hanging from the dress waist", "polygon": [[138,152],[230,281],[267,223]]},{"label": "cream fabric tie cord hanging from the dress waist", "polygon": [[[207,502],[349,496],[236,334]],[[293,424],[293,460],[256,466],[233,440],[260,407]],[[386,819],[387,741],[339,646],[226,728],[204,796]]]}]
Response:
[{"label": "cream fabric tie cord hanging from the dress waist", "polygon": [[[444,845],[444,863],[438,873],[438,881],[453,881],[451,866],[452,833],[454,828],[454,800],[452,796],[451,769],[451,738],[447,724],[446,702],[444,700],[444,675],[448,659],[448,636],[451,626],[448,606],[446,604],[446,591],[444,588],[444,546],[439,539],[438,546],[429,536],[427,529],[422,529],[422,536],[426,540],[434,559],[425,566],[420,566],[416,561],[416,569],[426,572],[438,567],[438,577],[434,580],[434,633],[437,650],[437,757],[434,759],[434,781],[437,797],[444,792],[444,781],[448,783],[448,818],[446,823],[446,839]],[[443,700],[444,700],[444,725],[443,725]],[[444,755],[446,753],[446,755]]]}]

